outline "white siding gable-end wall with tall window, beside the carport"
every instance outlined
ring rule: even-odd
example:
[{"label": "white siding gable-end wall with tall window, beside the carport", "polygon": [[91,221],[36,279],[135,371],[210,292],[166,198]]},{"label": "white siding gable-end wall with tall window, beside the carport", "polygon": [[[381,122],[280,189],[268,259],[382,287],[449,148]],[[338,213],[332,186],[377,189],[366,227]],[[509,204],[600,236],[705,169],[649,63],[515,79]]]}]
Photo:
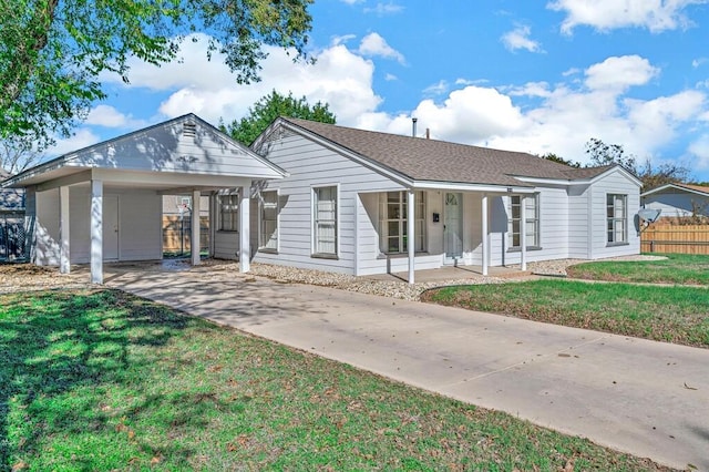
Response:
[{"label": "white siding gable-end wall with tall window, beside the carport", "polygon": [[[297,135],[284,135],[269,143],[268,160],[289,173],[271,181],[265,189],[279,193],[278,253],[258,252],[255,261],[354,274],[381,273],[387,259],[378,259],[379,220],[377,196],[359,193],[402,191],[391,179],[317,143]],[[338,258],[312,257],[312,187],[339,188]],[[354,223],[356,207],[359,219]],[[360,244],[356,249],[356,242]],[[359,259],[356,263],[356,252]],[[374,254],[377,253],[377,254]],[[405,264],[405,258],[402,264]],[[398,265],[397,265],[398,267]],[[399,269],[395,269],[399,270]]]}]

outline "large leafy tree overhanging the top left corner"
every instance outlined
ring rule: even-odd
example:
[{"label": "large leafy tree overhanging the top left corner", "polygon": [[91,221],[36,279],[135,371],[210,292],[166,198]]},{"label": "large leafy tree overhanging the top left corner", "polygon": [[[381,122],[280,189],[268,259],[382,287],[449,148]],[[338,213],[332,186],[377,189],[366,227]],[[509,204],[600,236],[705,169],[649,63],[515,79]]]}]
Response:
[{"label": "large leafy tree overhanging the top left corner", "polygon": [[[178,58],[187,34],[210,35],[207,55],[225,54],[236,82],[258,80],[261,44],[304,59],[312,0],[2,0],[0,138],[35,146],[68,136],[95,100],[101,79],[129,82],[133,57],[153,64]],[[194,37],[193,37],[194,38]]]}]

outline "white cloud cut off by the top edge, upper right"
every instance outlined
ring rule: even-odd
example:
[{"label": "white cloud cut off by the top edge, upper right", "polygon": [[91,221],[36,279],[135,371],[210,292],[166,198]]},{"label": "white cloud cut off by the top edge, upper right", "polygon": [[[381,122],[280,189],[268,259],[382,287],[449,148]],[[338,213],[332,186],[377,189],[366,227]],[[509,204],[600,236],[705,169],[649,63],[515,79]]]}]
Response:
[{"label": "white cloud cut off by the top edge, upper right", "polygon": [[600,31],[618,28],[647,28],[657,33],[688,28],[685,10],[707,0],[553,0],[547,8],[566,13],[562,32],[571,34],[578,25]]}]

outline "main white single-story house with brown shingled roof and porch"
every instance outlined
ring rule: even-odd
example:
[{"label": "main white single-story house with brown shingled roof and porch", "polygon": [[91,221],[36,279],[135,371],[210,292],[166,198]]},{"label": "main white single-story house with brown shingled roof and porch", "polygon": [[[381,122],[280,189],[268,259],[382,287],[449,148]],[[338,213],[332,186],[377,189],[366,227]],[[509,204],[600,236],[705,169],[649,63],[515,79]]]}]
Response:
[{"label": "main white single-story house with brown shingled roof and porch", "polygon": [[[639,253],[640,182],[497,151],[278,119],[251,146],[263,184],[255,260],[372,275]],[[257,217],[255,217],[255,215]],[[412,242],[411,245],[409,245]]]}]

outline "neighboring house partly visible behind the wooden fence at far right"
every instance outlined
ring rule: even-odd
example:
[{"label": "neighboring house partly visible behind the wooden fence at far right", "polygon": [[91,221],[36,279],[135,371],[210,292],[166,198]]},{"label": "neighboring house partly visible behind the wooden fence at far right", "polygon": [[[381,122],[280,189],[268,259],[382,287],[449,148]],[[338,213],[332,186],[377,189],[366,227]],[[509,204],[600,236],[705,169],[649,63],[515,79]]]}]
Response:
[{"label": "neighboring house partly visible behind the wooden fence at far right", "polygon": [[644,208],[660,209],[660,218],[709,216],[709,187],[667,184],[640,195]]}]

